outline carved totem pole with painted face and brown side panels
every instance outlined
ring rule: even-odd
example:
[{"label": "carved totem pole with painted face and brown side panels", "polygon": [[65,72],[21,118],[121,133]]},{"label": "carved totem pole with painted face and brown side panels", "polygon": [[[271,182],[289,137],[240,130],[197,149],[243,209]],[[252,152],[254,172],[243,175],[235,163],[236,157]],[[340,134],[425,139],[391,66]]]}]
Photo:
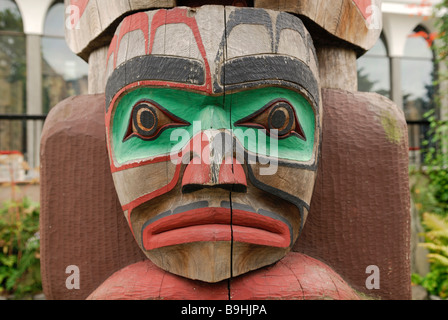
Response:
[{"label": "carved totem pole with painted face and brown side panels", "polygon": [[409,298],[406,124],[356,91],[378,1],[101,2],[66,0],[91,94],[42,136],[49,298]]}]

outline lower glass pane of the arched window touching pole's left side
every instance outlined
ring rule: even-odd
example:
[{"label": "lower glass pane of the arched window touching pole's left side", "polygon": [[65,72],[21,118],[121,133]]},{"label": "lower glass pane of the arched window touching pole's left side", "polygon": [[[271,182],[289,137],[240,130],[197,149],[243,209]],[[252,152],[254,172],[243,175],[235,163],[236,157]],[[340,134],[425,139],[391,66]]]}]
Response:
[{"label": "lower glass pane of the arched window touching pole's left side", "polygon": [[44,113],[69,96],[87,93],[88,65],[64,39],[43,37],[42,54]]}]

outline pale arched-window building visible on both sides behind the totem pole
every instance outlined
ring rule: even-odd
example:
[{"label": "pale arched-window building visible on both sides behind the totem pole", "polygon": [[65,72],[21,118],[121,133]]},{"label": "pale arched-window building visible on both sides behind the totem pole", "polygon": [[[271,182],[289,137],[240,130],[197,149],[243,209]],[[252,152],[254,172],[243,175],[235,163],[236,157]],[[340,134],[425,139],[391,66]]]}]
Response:
[{"label": "pale arched-window building visible on both sides behind the totem pole", "polygon": [[[415,164],[427,137],[423,115],[435,108],[436,90],[443,90],[434,85],[438,66],[431,49],[438,2],[383,1],[381,39],[358,60],[359,90],[378,92],[403,108]],[[30,168],[39,163],[45,114],[88,91],[88,65],[68,49],[64,26],[62,0],[0,0],[0,152],[22,152]],[[445,118],[446,111],[438,116]]]}]

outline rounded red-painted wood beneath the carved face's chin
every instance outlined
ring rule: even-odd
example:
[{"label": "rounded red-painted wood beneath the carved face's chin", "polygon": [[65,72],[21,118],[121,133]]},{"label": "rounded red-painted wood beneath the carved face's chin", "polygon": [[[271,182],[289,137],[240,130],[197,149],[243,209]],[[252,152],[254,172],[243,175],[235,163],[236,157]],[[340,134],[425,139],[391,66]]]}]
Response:
[{"label": "rounded red-painted wood beneath the carved face's chin", "polygon": [[360,300],[328,265],[291,252],[276,264],[206,283],[176,276],[142,261],[114,273],[88,300]]}]

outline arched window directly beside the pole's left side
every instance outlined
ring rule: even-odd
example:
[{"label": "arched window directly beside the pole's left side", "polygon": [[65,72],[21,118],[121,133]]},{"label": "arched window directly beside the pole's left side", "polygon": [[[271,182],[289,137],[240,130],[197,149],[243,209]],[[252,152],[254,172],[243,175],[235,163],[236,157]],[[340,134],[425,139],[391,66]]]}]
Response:
[{"label": "arched window directly beside the pole's left side", "polygon": [[43,112],[58,102],[88,90],[88,64],[68,48],[64,38],[65,8],[57,1],[49,9],[42,37]]}]

